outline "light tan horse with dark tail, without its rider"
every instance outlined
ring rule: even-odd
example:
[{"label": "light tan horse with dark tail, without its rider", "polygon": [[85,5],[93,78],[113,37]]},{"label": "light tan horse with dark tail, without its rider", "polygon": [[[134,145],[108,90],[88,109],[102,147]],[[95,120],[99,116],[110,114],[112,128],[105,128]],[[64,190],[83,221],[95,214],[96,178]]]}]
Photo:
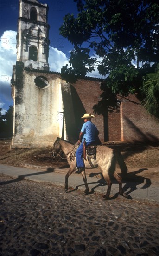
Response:
[{"label": "light tan horse with dark tail, without its rider", "polygon": [[[76,151],[77,147],[78,147],[77,143],[75,145],[73,145],[72,143],[65,141],[64,139],[60,139],[58,137],[53,145],[53,150],[52,150],[51,155],[53,157],[60,156],[60,153],[63,152],[67,156],[67,162],[70,165],[70,168],[65,176],[64,189],[66,191],[68,190],[68,178],[74,171],[76,171],[76,157],[72,157],[71,152]],[[90,165],[88,160],[84,160],[86,169],[91,169],[91,168],[96,168],[96,167],[99,167],[101,169],[103,178],[107,182],[107,186],[108,186],[106,195],[103,195],[103,198],[105,200],[109,199],[111,186],[112,186],[112,181],[111,181],[112,176],[114,176],[114,178],[119,183],[119,195],[122,195],[122,196],[128,198],[128,195],[126,193],[124,193],[124,191],[122,189],[121,176],[118,175],[117,172],[115,171],[115,166],[116,166],[117,161],[118,161],[118,164],[121,169],[121,174],[123,176],[126,176],[127,175],[127,166],[124,162],[124,159],[123,159],[123,156],[121,155],[121,153],[119,151],[109,148],[105,145],[97,146],[96,157],[95,157],[95,159],[93,159],[93,164]],[[83,182],[85,184],[84,192],[85,192],[85,194],[88,194],[89,187],[87,184],[87,177],[86,177],[85,170],[81,174],[83,176]]]}]

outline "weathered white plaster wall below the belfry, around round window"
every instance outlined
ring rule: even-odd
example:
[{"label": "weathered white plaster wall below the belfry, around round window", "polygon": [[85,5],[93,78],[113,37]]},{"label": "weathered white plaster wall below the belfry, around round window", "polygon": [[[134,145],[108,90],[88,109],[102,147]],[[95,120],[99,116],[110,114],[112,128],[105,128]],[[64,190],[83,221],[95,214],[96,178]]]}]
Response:
[{"label": "weathered white plaster wall below the belfry, around round window", "polygon": [[16,95],[20,100],[15,100],[14,106],[13,147],[52,146],[53,141],[62,136],[63,114],[59,113],[63,112],[61,79],[46,75],[49,84],[38,88],[34,79],[39,75],[42,74],[24,71],[22,89],[17,88]]}]

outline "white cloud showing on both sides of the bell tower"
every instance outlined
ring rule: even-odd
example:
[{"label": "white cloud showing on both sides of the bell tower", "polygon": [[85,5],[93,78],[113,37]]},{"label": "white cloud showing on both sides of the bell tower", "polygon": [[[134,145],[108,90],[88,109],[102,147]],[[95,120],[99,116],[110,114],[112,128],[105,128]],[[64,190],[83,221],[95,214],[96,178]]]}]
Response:
[{"label": "white cloud showing on both sides of the bell tower", "polygon": [[[16,31],[6,30],[0,38],[0,101],[4,109],[13,105],[10,81],[13,65],[16,64]],[[60,72],[63,65],[68,63],[66,55],[56,48],[50,47],[50,70]]]}]

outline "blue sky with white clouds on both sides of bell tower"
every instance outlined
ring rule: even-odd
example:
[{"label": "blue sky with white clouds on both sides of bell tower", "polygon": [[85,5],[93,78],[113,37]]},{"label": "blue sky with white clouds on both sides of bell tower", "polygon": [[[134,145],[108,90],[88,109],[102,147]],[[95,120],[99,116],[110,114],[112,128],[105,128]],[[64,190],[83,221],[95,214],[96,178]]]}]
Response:
[{"label": "blue sky with white clouds on both sides of bell tower", "polygon": [[[59,27],[63,24],[64,15],[77,14],[73,0],[39,0],[49,6],[48,23],[50,25],[49,64],[51,71],[60,72],[68,62],[73,46],[59,35]],[[0,107],[5,112],[13,105],[10,79],[12,66],[16,63],[16,34],[19,17],[19,0],[0,0]]]}]

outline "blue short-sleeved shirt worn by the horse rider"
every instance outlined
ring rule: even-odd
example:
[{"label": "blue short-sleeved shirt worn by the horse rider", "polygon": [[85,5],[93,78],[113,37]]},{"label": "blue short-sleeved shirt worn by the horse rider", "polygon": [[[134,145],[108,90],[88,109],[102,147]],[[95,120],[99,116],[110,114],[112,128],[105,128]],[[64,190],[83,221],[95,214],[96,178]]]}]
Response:
[{"label": "blue short-sleeved shirt worn by the horse rider", "polygon": [[94,142],[98,135],[98,129],[91,121],[87,121],[83,124],[81,132],[84,133],[82,141],[84,141],[85,138],[87,143]]}]

